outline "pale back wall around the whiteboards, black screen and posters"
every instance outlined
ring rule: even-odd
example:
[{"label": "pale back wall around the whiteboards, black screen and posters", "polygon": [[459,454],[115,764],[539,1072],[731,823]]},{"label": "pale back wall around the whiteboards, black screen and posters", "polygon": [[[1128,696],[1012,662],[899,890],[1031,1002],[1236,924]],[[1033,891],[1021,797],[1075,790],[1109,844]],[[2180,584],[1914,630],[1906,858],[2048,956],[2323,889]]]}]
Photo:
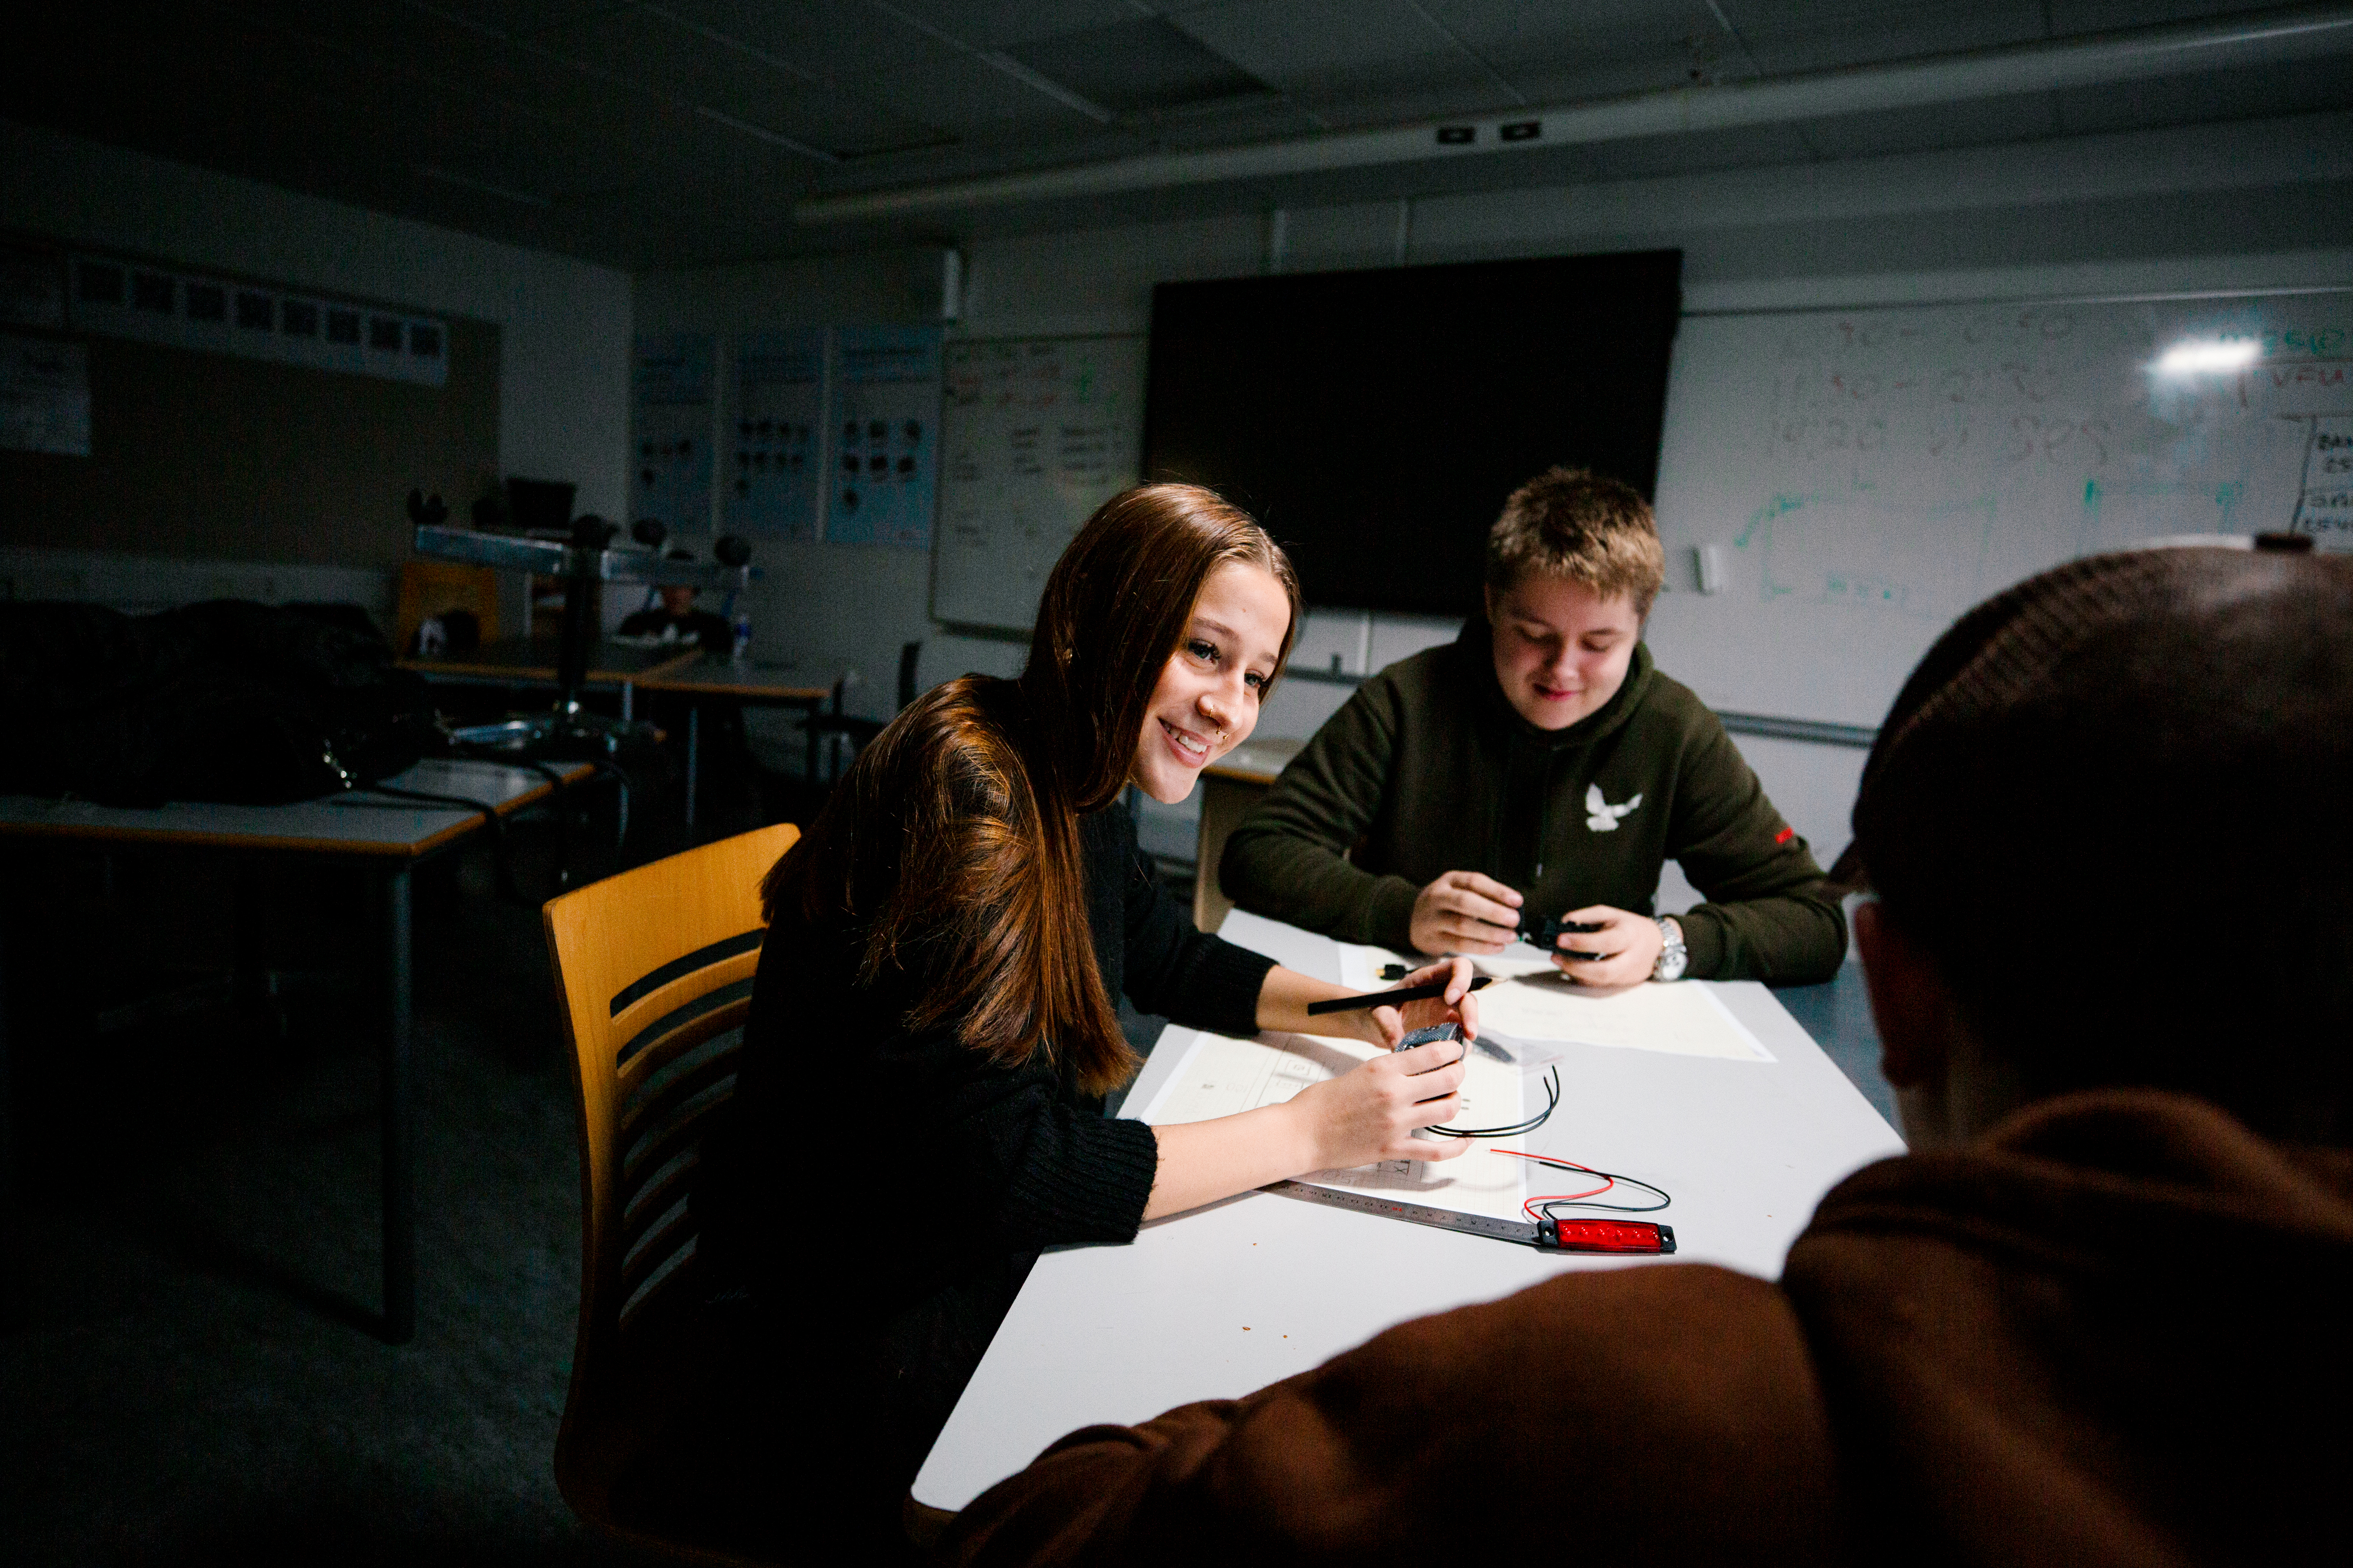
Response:
[{"label": "pale back wall around the whiteboards, black screen and posters", "polygon": [[[1257,270],[1318,270],[1673,244],[1687,310],[1777,310],[2054,294],[2313,287],[2353,277],[2353,113],[2221,127],[2073,136],[1958,153],[1628,179],[1553,190],[1445,195],[1136,223],[967,242],[965,336],[1144,331],[1151,284]],[[929,256],[929,254],[925,254]],[[885,287],[887,284],[887,287]],[[640,320],[736,329],[925,320],[936,275],[906,254],[864,261],[671,273],[640,280]],[[856,665],[849,698],[889,710],[904,639],[927,637],[925,679],[1009,670],[1019,649],[936,639],[925,562],[805,545],[769,555],[765,646],[809,670]],[[1313,583],[1308,585],[1313,597]],[[1445,628],[1315,616],[1304,656],[1379,668]],[[1367,649],[1367,644],[1372,644]],[[1344,686],[1289,682],[1261,733],[1311,733]],[[1828,860],[1845,846],[1864,755],[1744,738],[1791,823]],[[1188,818],[1148,837],[1188,853]],[[1687,900],[1668,867],[1666,907]]]}]

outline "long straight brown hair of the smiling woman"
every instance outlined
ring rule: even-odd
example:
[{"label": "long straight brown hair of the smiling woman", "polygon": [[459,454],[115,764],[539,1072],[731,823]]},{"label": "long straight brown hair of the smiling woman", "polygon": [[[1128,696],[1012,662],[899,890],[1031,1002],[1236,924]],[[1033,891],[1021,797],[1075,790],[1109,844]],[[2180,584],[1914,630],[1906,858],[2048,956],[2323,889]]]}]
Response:
[{"label": "long straight brown hair of the smiling woman", "polygon": [[1021,679],[967,675],[892,719],[769,870],[769,922],[852,922],[859,983],[913,980],[913,1030],[953,1020],[998,1065],[1042,1051],[1085,1093],[1120,1084],[1136,1056],[1094,961],[1078,818],[1127,783],[1160,670],[1228,562],[1289,595],[1280,677],[1299,578],[1266,529],[1195,484],[1096,508],[1047,576]]}]

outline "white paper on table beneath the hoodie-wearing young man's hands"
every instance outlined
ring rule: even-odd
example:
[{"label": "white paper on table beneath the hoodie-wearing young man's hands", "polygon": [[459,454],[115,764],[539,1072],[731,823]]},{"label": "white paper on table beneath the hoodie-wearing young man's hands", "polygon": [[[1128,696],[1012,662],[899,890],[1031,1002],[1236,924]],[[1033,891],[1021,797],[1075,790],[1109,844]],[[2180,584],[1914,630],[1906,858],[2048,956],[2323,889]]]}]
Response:
[{"label": "white paper on table beneath the hoodie-wearing young man's hands", "polygon": [[[1501,957],[1525,947],[1513,943]],[[1525,952],[1534,954],[1532,947]],[[1487,959],[1473,959],[1480,969]],[[1341,985],[1381,990],[1384,964],[1409,964],[1386,947],[1341,945]],[[1508,969],[1506,969],[1508,973]],[[1713,1056],[1734,1063],[1769,1063],[1772,1051],[1748,1032],[1706,983],[1628,985],[1617,992],[1586,990],[1567,976],[1537,969],[1499,978],[1478,994],[1482,1032],[1511,1044],[1560,1041],[1614,1051],[1661,1051],[1666,1056]],[[1527,1053],[1522,1051],[1522,1060]]]}]

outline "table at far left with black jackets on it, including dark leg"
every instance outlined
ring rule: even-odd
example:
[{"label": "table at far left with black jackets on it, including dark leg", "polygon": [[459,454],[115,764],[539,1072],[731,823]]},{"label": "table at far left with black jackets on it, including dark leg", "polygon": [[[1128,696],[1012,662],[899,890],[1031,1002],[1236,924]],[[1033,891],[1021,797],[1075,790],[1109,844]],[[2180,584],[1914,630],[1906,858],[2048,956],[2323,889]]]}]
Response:
[{"label": "table at far left with black jackets on it, including dark leg", "polygon": [[[562,780],[591,776],[584,762],[560,764]],[[508,816],[546,797],[541,773],[494,762],[419,762],[384,780],[398,790],[459,795]],[[169,804],[99,806],[75,799],[0,795],[0,846],[7,842],[80,839],[115,851],[205,849],[231,856],[304,856],[369,872],[381,950],[381,1126],[384,1126],[384,1314],[381,1335],[405,1345],[416,1331],[416,1208],[412,1157],[409,1023],[409,875],[468,832],[480,813],[360,790],[289,806]],[[0,952],[0,997],[5,964]],[[0,1009],[0,1126],[7,1124],[7,1016]],[[0,1145],[0,1187],[14,1152]],[[0,1190],[0,1204],[7,1204]]]}]

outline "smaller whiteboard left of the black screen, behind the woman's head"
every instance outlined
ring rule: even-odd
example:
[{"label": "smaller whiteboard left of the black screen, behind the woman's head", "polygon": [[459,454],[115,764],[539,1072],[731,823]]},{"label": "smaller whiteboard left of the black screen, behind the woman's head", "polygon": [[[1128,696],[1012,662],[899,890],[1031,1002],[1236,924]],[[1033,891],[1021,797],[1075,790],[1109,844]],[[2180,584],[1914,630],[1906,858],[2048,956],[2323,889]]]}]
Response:
[{"label": "smaller whiteboard left of the black screen, behind the woman's head", "polygon": [[946,346],[932,618],[1028,630],[1078,527],[1136,482],[1144,339]]}]

